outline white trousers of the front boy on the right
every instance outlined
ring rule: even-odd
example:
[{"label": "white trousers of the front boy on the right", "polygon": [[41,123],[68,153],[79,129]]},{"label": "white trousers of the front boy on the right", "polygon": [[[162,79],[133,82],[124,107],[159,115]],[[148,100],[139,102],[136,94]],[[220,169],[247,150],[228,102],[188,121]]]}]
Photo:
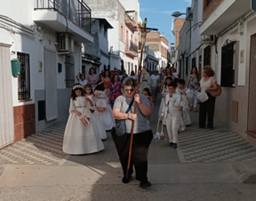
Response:
[{"label": "white trousers of the front boy on the right", "polygon": [[180,127],[180,114],[172,115],[167,113],[166,115],[166,128],[169,136],[170,143],[178,143],[178,128]]}]

